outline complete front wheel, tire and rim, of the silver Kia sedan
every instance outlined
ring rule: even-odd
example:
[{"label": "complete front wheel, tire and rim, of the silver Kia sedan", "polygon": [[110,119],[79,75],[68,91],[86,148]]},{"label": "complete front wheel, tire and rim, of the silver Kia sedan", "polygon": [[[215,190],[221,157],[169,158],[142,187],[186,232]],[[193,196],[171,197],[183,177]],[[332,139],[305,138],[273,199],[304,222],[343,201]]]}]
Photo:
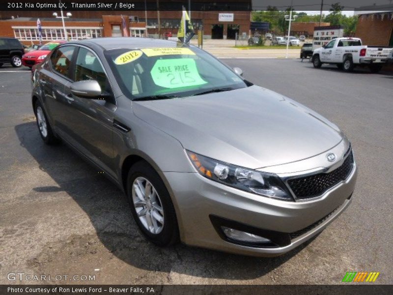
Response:
[{"label": "complete front wheel, tire and rim, of the silver Kia sedan", "polygon": [[164,181],[145,161],[134,164],[127,177],[127,199],[140,231],[158,246],[178,240],[175,209]]}]

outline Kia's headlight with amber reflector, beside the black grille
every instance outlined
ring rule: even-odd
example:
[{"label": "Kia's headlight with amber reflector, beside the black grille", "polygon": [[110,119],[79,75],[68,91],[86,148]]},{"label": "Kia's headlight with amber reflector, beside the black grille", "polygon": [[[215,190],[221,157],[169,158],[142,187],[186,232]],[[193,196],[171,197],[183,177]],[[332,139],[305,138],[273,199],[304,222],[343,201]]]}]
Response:
[{"label": "Kia's headlight with amber reflector, beside the black grille", "polygon": [[231,165],[189,150],[186,152],[199,174],[206,178],[264,197],[294,201],[281,178],[275,174]]}]

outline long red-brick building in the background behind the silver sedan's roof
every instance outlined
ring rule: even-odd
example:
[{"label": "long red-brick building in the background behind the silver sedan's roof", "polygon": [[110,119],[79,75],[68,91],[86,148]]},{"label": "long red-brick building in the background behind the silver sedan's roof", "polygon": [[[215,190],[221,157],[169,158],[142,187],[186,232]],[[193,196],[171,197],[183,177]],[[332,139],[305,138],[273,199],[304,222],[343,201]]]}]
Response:
[{"label": "long red-brick building in the background behind the silver sedan's roof", "polygon": [[[205,5],[213,5],[205,1]],[[206,6],[203,10],[192,11],[191,21],[195,29],[203,29],[204,38],[234,39],[236,33],[250,32],[251,0],[228,0],[228,4],[236,5],[239,10],[215,11],[216,6]],[[0,11],[0,36],[20,39],[26,44],[37,43],[36,21],[40,19],[44,41],[64,38],[61,19],[53,13],[59,11]],[[68,39],[84,39],[91,37],[119,36],[122,34],[121,15],[125,18],[129,35],[162,35],[166,32],[177,34],[182,16],[181,7],[175,11],[160,11],[160,18],[155,10],[138,11],[86,11],[64,10]],[[146,20],[147,16],[147,20]]]}]

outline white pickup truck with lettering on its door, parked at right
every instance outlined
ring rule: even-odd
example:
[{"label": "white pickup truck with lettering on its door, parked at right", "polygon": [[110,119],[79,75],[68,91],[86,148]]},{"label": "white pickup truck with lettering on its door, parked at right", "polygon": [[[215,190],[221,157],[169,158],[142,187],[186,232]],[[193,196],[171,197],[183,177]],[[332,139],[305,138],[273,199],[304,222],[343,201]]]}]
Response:
[{"label": "white pickup truck with lettering on its door, parked at right", "polygon": [[362,45],[359,38],[336,38],[312,53],[312,63],[320,68],[323,63],[337,64],[350,72],[355,66],[368,66],[377,73],[383,64],[392,61],[393,47]]}]

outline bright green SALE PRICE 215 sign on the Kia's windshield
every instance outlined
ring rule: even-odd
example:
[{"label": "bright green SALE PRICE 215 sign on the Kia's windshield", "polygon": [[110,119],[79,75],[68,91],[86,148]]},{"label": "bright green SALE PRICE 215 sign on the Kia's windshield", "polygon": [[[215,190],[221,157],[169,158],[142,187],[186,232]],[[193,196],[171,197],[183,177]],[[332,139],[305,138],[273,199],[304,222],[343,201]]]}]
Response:
[{"label": "bright green SALE PRICE 215 sign on the Kia's windshield", "polygon": [[194,59],[158,59],[150,71],[156,85],[179,88],[206,84]]}]

